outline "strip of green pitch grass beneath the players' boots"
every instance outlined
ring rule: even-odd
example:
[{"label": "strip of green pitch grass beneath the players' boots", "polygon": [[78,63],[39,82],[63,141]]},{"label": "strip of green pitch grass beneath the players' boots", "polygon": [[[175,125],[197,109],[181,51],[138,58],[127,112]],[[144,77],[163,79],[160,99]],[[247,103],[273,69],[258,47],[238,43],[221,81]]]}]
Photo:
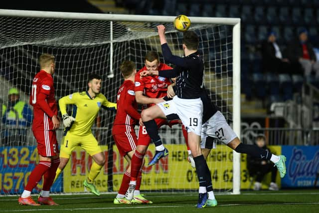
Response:
[{"label": "strip of green pitch grass beneath the players' boots", "polygon": [[[216,195],[217,207],[196,209],[196,194],[148,193],[152,205],[115,205],[115,194],[100,197],[87,195],[53,195],[60,206],[20,206],[18,197],[0,196],[0,213],[319,213],[319,190],[282,190],[279,192],[242,192],[241,195]],[[36,199],[36,196],[33,196]]]}]

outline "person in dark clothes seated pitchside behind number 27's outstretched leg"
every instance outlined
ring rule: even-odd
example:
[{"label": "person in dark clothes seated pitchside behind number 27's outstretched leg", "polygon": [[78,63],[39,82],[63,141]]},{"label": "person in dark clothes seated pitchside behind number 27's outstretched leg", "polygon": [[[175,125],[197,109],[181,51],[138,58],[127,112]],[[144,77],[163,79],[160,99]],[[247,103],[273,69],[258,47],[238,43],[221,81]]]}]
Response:
[{"label": "person in dark clothes seated pitchside behind number 27's outstretched leg", "polygon": [[[257,136],[255,145],[269,151],[266,146],[266,138],[263,134]],[[274,167],[270,161],[247,155],[247,169],[250,176],[256,176],[254,190],[258,191],[261,189],[261,182],[269,172],[271,172],[269,190],[278,190],[278,186],[276,184],[277,168]]]}]

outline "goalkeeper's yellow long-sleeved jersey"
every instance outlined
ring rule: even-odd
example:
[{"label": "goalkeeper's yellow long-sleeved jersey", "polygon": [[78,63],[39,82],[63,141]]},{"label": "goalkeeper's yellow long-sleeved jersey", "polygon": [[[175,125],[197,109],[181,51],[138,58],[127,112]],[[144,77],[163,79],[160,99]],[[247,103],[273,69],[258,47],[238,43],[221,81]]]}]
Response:
[{"label": "goalkeeper's yellow long-sleeved jersey", "polygon": [[101,107],[116,110],[116,103],[109,102],[99,93],[92,99],[88,92],[76,92],[64,96],[59,100],[61,114],[66,114],[66,105],[73,104],[72,117],[75,121],[65,128],[64,135],[70,131],[74,135],[88,135],[92,133],[91,127]]}]

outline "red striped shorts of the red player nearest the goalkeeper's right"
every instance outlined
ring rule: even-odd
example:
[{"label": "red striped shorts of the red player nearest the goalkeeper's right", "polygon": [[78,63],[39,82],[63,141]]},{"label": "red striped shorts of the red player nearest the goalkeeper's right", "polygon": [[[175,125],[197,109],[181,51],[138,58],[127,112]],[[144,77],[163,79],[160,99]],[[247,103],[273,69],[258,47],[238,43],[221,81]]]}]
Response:
[{"label": "red striped shorts of the red player nearest the goalkeeper's right", "polygon": [[113,139],[121,156],[125,156],[127,153],[135,150],[138,143],[134,130],[113,135]]}]

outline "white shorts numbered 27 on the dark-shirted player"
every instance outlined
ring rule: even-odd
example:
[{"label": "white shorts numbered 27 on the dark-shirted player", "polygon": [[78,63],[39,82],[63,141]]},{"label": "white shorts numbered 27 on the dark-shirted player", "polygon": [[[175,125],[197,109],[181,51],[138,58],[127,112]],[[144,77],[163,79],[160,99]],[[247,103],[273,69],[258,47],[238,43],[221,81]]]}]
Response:
[{"label": "white shorts numbered 27 on the dark-shirted player", "polygon": [[217,140],[228,144],[237,137],[224,115],[217,111],[202,125],[200,148],[214,149]]}]

